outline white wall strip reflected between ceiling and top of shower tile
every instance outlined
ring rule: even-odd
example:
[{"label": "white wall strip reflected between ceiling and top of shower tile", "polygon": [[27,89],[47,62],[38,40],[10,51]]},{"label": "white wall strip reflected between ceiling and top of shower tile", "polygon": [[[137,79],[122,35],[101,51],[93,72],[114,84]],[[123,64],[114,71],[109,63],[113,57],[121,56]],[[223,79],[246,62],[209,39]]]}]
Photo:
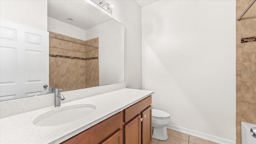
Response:
[{"label": "white wall strip reflected between ceiling and top of shower tile", "polygon": [[78,38],[80,40],[86,40],[85,30],[82,28],[78,28],[76,26],[72,26],[71,24],[67,24],[60,20],[56,20],[54,18],[48,17],[48,31],[56,32],[58,34],[63,34],[65,36],[70,36],[72,38]]}]

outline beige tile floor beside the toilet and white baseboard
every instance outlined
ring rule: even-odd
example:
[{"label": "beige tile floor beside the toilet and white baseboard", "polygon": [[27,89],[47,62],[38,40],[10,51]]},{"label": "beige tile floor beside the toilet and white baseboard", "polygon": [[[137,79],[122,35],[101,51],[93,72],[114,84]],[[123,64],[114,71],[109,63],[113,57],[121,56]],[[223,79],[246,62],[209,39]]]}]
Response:
[{"label": "beige tile floor beside the toilet and white baseboard", "polygon": [[156,140],[153,138],[151,144],[218,144],[209,140],[184,134],[176,130],[167,128],[168,139],[166,141]]}]

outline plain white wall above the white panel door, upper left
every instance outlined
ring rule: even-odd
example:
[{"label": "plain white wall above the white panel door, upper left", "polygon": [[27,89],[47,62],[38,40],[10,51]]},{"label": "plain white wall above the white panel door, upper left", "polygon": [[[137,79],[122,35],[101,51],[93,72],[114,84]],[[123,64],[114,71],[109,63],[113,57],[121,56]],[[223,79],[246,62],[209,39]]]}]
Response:
[{"label": "plain white wall above the white panel door, upper left", "polygon": [[0,18],[47,31],[47,0],[0,0]]}]

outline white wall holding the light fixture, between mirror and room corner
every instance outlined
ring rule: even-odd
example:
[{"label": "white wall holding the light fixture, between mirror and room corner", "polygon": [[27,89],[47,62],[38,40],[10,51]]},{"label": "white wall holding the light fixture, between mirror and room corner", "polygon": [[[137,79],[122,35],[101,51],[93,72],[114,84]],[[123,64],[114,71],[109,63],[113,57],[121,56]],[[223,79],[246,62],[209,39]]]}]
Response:
[{"label": "white wall holding the light fixture, between mirror and room corner", "polygon": [[113,14],[86,0],[125,26],[125,82],[127,88],[142,89],[141,8],[134,0],[108,0]]}]

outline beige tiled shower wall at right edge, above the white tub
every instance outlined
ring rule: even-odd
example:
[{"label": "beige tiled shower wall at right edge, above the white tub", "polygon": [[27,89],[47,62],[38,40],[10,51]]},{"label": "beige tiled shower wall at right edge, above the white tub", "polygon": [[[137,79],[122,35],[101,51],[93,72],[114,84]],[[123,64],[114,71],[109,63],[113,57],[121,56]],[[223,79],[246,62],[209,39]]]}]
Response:
[{"label": "beige tiled shower wall at right edge, above the white tub", "polygon": [[[252,0],[236,0],[236,18]],[[256,124],[256,3],[236,21],[236,144],[241,121]]]}]

